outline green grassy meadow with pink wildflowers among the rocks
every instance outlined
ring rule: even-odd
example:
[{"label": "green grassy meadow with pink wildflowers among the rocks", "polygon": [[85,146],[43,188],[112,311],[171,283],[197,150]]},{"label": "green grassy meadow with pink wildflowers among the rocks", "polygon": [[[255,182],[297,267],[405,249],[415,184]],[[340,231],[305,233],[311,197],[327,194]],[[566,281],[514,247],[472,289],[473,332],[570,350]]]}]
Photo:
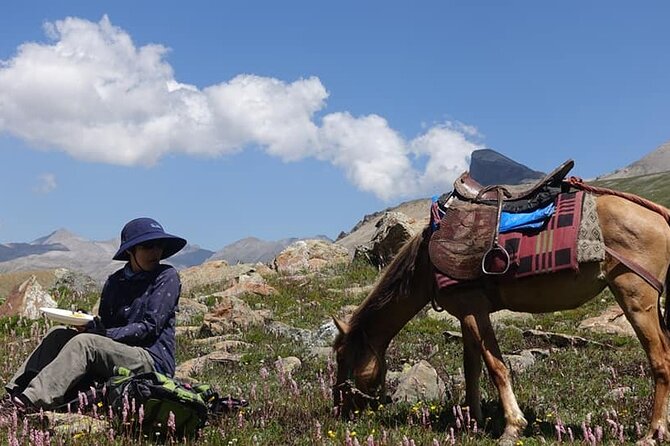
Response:
[{"label": "green grassy meadow with pink wildflowers among the rocks", "polygon": [[[606,187],[630,190],[668,205],[670,175],[653,175],[645,183],[617,180]],[[640,185],[642,183],[642,185]],[[653,194],[650,189],[653,185]],[[630,186],[630,187],[628,187]],[[632,186],[635,186],[633,188]],[[646,188],[646,189],[645,189]],[[428,212],[428,210],[426,210]],[[355,263],[308,276],[302,281],[281,276],[269,279],[278,292],[270,297],[246,296],[254,309],[272,310],[274,320],[297,328],[316,330],[347,305],[357,305],[364,294],[342,292],[345,288],[373,284],[378,271]],[[91,307],[96,295],[78,296],[60,290],[59,306]],[[196,290],[202,297],[216,289]],[[200,299],[213,304],[213,299]],[[497,334],[503,353],[523,349],[550,349],[549,356],[515,373],[514,389],[529,425],[519,445],[551,443],[627,444],[646,431],[651,405],[651,377],[646,357],[636,339],[584,333],[579,323],[612,305],[608,291],[572,311],[535,315],[505,321]],[[583,347],[555,348],[522,335],[530,328],[580,335],[596,341]],[[497,392],[484,369],[481,387],[485,422],[477,426],[460,407],[464,389],[462,346],[448,341],[443,332],[457,326],[420,313],[392,342],[388,367],[398,371],[405,364],[427,359],[446,384],[440,400],[415,404],[395,403],[379,410],[363,411],[352,420],[333,416],[330,387],[334,381],[332,359],[310,355],[292,339],[250,328],[235,339],[243,347],[239,363],[213,363],[195,378],[213,384],[221,394],[249,400],[249,407],[230,416],[213,419],[200,438],[186,440],[198,445],[450,445],[495,444],[501,434],[502,412]],[[44,320],[0,319],[0,383],[6,382],[47,330]],[[178,338],[177,362],[209,353],[196,336]],[[278,357],[297,356],[302,367],[292,374],[274,366]],[[392,392],[393,386],[387,391]],[[0,394],[4,392],[0,390]],[[16,423],[16,425],[14,425]],[[47,442],[48,441],[48,442]],[[168,443],[183,442],[168,439]],[[105,435],[55,434],[20,419],[0,427],[0,444],[126,445],[150,444],[124,432]]]}]

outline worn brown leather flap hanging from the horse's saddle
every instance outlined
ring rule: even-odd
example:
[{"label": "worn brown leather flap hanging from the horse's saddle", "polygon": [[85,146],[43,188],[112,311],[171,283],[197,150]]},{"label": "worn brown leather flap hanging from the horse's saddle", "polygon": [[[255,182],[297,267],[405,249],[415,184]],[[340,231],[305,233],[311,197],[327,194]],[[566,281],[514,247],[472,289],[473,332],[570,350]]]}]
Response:
[{"label": "worn brown leather flap hanging from the horse's saddle", "polygon": [[428,244],[433,265],[457,280],[482,275],[482,258],[491,245],[496,225],[494,206],[456,201],[450,203]]}]

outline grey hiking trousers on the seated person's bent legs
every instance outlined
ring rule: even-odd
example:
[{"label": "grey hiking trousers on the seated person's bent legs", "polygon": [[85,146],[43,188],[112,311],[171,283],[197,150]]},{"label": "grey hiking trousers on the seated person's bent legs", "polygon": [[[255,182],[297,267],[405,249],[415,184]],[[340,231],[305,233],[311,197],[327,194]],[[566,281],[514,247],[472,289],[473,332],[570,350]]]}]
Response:
[{"label": "grey hiking trousers on the seated person's bent legs", "polygon": [[58,326],[47,332],[5,388],[49,409],[63,404],[82,380],[113,376],[115,366],[133,373],[155,371],[153,358],[142,347]]}]

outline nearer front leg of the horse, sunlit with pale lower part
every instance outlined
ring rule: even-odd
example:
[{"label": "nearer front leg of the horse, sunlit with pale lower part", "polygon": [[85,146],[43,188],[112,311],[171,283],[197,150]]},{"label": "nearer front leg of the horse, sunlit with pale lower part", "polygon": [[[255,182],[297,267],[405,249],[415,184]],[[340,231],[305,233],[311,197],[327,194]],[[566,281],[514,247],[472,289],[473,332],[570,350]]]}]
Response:
[{"label": "nearer front leg of the horse, sunlit with pale lower part", "polygon": [[467,336],[472,336],[472,342],[476,342],[479,346],[493,384],[498,389],[500,404],[505,414],[505,431],[500,437],[499,442],[505,445],[515,444],[524,428],[528,425],[528,422],[519,408],[516,396],[514,396],[514,392],[512,391],[510,372],[503,362],[502,353],[493,332],[489,314],[483,312],[468,314],[463,317],[461,328],[464,339],[467,332]]}]

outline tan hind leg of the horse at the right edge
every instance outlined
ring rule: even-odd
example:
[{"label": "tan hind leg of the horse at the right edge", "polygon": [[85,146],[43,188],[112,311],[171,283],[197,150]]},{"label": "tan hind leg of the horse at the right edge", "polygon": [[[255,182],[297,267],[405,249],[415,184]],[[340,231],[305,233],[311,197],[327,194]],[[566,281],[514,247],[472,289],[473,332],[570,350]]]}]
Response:
[{"label": "tan hind leg of the horse at the right edge", "polygon": [[[616,273],[614,271],[610,273]],[[654,379],[654,402],[646,440],[667,436],[667,407],[670,390],[670,340],[659,320],[658,294],[631,272],[615,275],[610,288],[644,348]]]}]

